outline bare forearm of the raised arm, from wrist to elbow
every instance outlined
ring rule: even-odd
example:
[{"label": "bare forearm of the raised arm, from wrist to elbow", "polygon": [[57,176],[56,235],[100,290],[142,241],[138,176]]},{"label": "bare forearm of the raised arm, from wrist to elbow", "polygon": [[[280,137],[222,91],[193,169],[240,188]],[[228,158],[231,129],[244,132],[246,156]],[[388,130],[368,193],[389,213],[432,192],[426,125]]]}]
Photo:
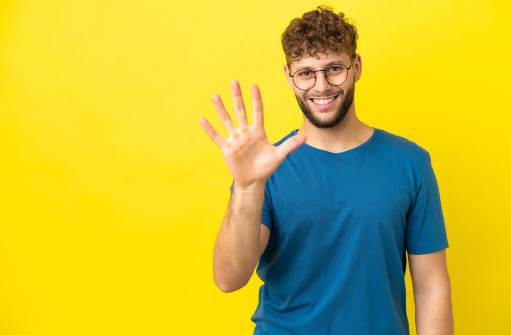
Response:
[{"label": "bare forearm of the raised arm, from wrist to elbow", "polygon": [[264,183],[233,187],[213,250],[213,276],[223,292],[236,291],[250,279],[259,260]]}]

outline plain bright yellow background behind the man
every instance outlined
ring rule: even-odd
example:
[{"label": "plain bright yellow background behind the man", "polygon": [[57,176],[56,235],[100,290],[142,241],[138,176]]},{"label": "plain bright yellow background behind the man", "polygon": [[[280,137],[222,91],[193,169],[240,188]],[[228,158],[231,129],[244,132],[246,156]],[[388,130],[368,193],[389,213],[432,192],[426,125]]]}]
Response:
[{"label": "plain bright yellow background behind the man", "polygon": [[226,136],[211,96],[234,118],[237,79],[248,109],[259,84],[271,142],[299,128],[280,35],[321,4],[357,23],[358,117],[431,154],[456,333],[509,330],[508,7],[0,4],[0,334],[252,333],[260,279],[213,282],[231,177],[198,119]]}]

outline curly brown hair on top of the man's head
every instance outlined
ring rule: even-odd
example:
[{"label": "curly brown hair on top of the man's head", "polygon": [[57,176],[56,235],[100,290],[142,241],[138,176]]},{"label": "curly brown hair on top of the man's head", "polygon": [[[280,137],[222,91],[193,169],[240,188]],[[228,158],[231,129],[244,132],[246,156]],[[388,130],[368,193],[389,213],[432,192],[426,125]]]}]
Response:
[{"label": "curly brown hair on top of the man's head", "polygon": [[350,58],[357,50],[357,28],[344,19],[344,13],[335,14],[332,7],[318,6],[301,18],[291,20],[282,34],[282,47],[289,66],[304,55],[319,59],[318,53],[331,50],[346,53]]}]

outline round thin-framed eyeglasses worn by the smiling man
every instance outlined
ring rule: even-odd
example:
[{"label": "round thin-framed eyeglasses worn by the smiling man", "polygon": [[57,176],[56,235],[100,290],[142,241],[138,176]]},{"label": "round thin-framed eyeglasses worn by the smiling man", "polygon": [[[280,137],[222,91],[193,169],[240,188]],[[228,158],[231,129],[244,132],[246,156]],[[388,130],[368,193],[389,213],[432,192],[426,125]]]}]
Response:
[{"label": "round thin-framed eyeglasses worn by the smiling man", "polygon": [[[323,70],[312,71],[308,69],[298,70],[292,76],[296,88],[307,91],[316,84],[316,72],[324,71],[324,78],[330,85],[342,85],[348,78],[348,70],[352,67],[355,55],[349,67],[344,64],[334,64]],[[289,68],[289,64],[288,64]]]}]

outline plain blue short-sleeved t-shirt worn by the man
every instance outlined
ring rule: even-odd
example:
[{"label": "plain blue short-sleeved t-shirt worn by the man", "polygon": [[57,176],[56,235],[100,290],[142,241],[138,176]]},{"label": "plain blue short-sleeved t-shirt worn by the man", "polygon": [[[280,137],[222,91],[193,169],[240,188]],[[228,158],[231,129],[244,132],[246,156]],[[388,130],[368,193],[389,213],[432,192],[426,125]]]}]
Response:
[{"label": "plain blue short-sleeved t-shirt worn by the man", "polygon": [[449,247],[429,153],[378,128],[344,152],[292,151],[266,181],[261,221],[254,334],[408,335],[405,250]]}]

